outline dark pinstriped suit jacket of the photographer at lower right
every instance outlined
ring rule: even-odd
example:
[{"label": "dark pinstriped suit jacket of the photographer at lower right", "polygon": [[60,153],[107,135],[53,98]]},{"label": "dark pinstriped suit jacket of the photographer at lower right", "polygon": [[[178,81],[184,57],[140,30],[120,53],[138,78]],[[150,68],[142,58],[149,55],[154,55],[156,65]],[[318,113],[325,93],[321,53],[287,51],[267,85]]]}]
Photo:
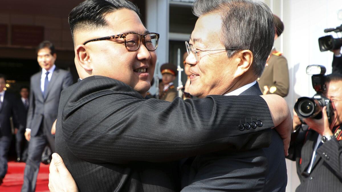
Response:
[{"label": "dark pinstriped suit jacket of the photographer at lower right", "polygon": [[[316,151],[310,174],[310,165],[318,133],[303,125],[291,135],[288,159],[296,161],[301,181],[296,192],[342,191],[342,140],[336,138],[323,143]],[[332,130],[334,133],[334,129]],[[292,139],[293,138],[293,139]]]}]

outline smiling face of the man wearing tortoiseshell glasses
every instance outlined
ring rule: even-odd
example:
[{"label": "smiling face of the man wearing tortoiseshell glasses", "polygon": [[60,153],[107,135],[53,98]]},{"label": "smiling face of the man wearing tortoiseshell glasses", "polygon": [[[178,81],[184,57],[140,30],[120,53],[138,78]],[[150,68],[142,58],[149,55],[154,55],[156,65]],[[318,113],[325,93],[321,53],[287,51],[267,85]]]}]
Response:
[{"label": "smiling face of the man wearing tortoiseshell glasses", "polygon": [[[136,51],[128,51],[123,38],[115,40],[93,41],[85,46],[84,42],[101,37],[135,32],[141,35],[148,31],[139,16],[131,10],[121,9],[108,13],[104,17],[108,26],[94,30],[75,31],[75,53],[79,46],[85,47],[87,58],[84,62],[90,66],[90,75],[99,75],[122,81],[143,96],[150,88],[153,78],[156,53],[148,51],[143,42]],[[143,41],[143,40],[142,40]]]}]

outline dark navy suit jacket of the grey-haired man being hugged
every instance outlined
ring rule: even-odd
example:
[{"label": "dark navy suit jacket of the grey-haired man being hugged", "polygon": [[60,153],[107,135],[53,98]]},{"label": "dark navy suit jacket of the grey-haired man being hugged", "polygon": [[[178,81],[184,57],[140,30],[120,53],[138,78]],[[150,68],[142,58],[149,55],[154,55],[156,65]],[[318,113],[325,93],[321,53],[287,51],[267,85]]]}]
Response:
[{"label": "dark navy suit jacket of the grey-haired man being hugged", "polygon": [[[258,83],[255,83],[240,94],[242,95],[262,93]],[[259,113],[263,111],[260,110]],[[185,165],[185,168],[188,167]],[[283,142],[275,130],[272,130],[272,142],[268,148],[198,155],[188,169],[190,173],[185,177],[188,177],[189,182],[182,183],[183,192],[285,191],[287,184]]]}]

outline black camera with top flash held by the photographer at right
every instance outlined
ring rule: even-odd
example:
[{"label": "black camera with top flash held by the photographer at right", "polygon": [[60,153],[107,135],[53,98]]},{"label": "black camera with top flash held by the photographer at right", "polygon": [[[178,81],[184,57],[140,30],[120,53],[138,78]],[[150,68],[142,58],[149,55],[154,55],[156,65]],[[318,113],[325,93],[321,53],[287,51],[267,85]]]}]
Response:
[{"label": "black camera with top flash held by the photographer at right", "polygon": [[306,74],[312,75],[312,86],[316,94],[312,98],[298,98],[294,105],[294,111],[300,118],[321,119],[323,117],[322,109],[324,106],[327,106],[327,116],[331,123],[331,117],[333,115],[331,101],[323,95],[323,92],[326,91],[325,72],[326,68],[321,65],[309,65],[306,67]]}]

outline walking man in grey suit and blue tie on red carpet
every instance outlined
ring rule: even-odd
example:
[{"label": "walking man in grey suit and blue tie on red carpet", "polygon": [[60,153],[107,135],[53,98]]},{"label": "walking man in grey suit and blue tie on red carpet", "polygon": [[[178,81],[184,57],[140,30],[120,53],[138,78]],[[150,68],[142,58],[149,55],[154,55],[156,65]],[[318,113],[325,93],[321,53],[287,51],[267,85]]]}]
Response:
[{"label": "walking man in grey suit and blue tie on red carpet", "polygon": [[34,74],[30,82],[30,101],[25,137],[29,142],[22,191],[35,191],[41,155],[46,145],[55,151],[55,139],[51,134],[57,119],[60,95],[73,83],[70,72],[55,66],[55,47],[43,41],[37,48],[37,60],[42,71]]}]

